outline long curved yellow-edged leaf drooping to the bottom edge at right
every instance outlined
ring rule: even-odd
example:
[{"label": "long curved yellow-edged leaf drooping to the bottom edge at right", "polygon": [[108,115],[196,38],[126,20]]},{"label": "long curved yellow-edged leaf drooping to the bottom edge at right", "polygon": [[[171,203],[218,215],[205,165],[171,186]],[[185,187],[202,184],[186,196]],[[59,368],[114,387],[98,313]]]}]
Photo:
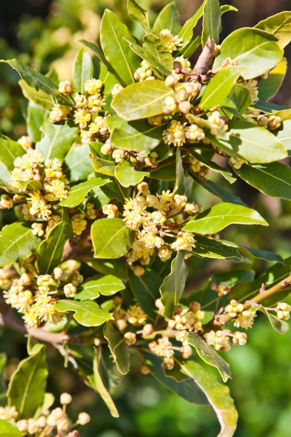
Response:
[{"label": "long curved yellow-edged leaf drooping to the bottom edge at right", "polygon": [[176,362],[174,369],[166,370],[166,374],[177,381],[193,379],[204,391],[219,420],[221,430],[217,437],[232,437],[236,430],[238,413],[229,395],[229,388],[220,384],[212,373],[194,361],[186,361],[177,356],[174,356],[174,359]]}]

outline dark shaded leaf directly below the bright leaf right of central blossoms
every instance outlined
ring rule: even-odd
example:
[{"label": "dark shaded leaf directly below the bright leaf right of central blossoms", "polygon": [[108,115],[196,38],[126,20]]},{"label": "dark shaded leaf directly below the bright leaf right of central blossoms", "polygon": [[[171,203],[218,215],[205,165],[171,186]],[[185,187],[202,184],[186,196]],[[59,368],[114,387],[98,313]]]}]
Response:
[{"label": "dark shaded leaf directly below the bright leaf right of central blossoms", "polygon": [[192,249],[192,252],[206,258],[223,259],[234,257],[238,258],[238,260],[242,260],[237,249],[230,248],[221,241],[202,235],[195,235],[195,247]]}]

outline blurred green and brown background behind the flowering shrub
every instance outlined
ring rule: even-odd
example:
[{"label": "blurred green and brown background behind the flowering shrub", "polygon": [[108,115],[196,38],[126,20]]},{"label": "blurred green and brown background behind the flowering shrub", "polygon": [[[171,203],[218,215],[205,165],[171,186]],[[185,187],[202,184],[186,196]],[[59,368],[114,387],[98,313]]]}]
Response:
[{"label": "blurred green and brown background behind the flowering shrub", "polygon": [[[143,7],[151,7],[154,19],[166,0],[143,0]],[[202,1],[177,1],[183,23]],[[253,26],[259,20],[290,9],[289,0],[221,1],[239,8],[238,13],[223,16],[222,39],[233,30]],[[96,40],[100,16],[106,7],[112,9],[141,36],[141,28],[128,17],[126,0],[0,0],[0,58],[17,57],[32,67],[47,73],[52,63],[60,79],[69,79],[81,38]],[[291,59],[291,48],[286,50]],[[61,59],[62,58],[62,59]],[[194,62],[194,60],[193,60]],[[0,132],[13,138],[26,134],[24,117],[26,101],[20,98],[18,76],[12,69],[0,65]],[[291,75],[273,99],[275,103],[291,104]],[[221,181],[220,181],[221,183]],[[273,250],[283,257],[290,255],[291,206],[286,201],[270,199],[259,194],[243,181],[234,184],[234,192],[255,207],[270,223],[268,228],[231,226],[222,235],[236,242]],[[202,188],[194,187],[194,198],[204,207],[217,202]],[[248,260],[244,267],[259,274],[269,264]],[[203,287],[214,273],[230,269],[225,261],[205,261],[192,258],[187,291]],[[291,301],[289,302],[291,303]],[[272,331],[271,325],[259,314],[248,342],[243,347],[232,347],[224,353],[230,363],[233,379],[230,392],[239,412],[236,437],[291,436],[291,331],[284,336]],[[0,330],[0,352],[8,354],[6,381],[20,359],[26,356],[25,338],[8,330]],[[68,391],[73,395],[69,414],[76,418],[80,411],[88,412],[92,420],[80,429],[82,437],[214,437],[219,426],[211,407],[195,407],[159,386],[151,375],[143,376],[140,362],[132,356],[132,371],[114,390],[114,401],[119,419],[110,416],[103,401],[69,367],[63,358],[48,346],[49,387],[56,395]],[[117,376],[117,375],[116,375]]]}]

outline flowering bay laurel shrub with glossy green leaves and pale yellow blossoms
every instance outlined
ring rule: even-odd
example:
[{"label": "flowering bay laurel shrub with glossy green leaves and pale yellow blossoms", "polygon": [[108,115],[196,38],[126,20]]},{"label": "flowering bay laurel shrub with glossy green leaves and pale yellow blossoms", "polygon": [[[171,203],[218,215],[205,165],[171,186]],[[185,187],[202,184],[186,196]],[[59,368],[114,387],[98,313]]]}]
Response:
[{"label": "flowering bay laurel shrub with glossy green leaves and pale yellow blossoms", "polygon": [[[258,312],[279,334],[288,330],[291,257],[220,238],[230,224],[268,226],[223,181],[291,199],[291,170],[280,162],[291,154],[291,108],[269,102],[286,73],[291,12],[219,45],[221,16],[234,10],[205,0],[181,26],[169,3],[151,25],[129,0],[142,41],[106,10],[98,44],[81,41],[73,82],[2,61],[19,74],[28,105],[27,136],[0,137],[0,207],[10,222],[0,232],[0,323],[28,335],[28,358],[3,395],[0,434],[77,437],[72,427],[90,420],[67,417],[68,393],[51,408],[46,343],[114,417],[112,369],[126,375],[136,354],[142,373],[211,404],[219,436],[235,432],[219,351],[244,345]],[[217,197],[214,206],[196,202],[198,185]],[[194,266],[228,260],[229,269],[185,294],[190,257]],[[238,267],[249,257],[273,264],[255,278]]]}]

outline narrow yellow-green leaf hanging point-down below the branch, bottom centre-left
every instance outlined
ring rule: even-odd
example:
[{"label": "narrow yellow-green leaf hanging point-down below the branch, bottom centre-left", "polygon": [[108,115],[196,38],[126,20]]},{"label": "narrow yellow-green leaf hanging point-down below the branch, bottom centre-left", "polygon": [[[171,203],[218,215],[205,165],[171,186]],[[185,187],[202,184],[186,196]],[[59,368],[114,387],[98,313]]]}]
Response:
[{"label": "narrow yellow-green leaf hanging point-down below the branch, bottom centre-left", "polygon": [[94,350],[94,357],[93,357],[93,370],[94,370],[94,382],[95,382],[96,391],[99,393],[103,401],[108,406],[111,415],[113,417],[119,417],[116,406],[109,394],[109,389],[107,389],[107,387],[105,386],[104,374],[107,374],[107,369],[102,359],[101,351],[99,350],[97,352],[96,348]]}]

